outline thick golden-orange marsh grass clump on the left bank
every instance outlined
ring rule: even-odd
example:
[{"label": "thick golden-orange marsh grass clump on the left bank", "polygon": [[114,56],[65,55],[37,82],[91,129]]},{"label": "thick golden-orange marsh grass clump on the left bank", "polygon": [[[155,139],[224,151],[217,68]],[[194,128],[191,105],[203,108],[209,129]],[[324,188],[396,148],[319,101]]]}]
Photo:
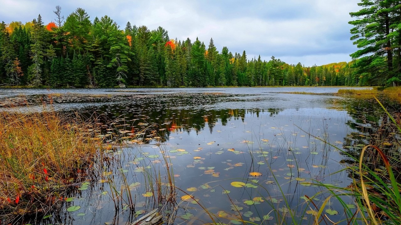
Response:
[{"label": "thick golden-orange marsh grass clump on the left bank", "polygon": [[102,142],[94,126],[54,110],[0,112],[2,215],[48,210],[85,181]]}]

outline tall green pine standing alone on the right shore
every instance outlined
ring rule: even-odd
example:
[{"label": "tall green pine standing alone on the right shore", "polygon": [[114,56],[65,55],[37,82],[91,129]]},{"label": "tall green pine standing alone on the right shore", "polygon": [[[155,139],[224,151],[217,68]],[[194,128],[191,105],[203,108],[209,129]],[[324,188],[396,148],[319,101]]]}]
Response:
[{"label": "tall green pine standing alone on the right shore", "polygon": [[401,1],[361,0],[361,9],[351,12],[351,40],[360,48],[350,56],[356,60],[355,74],[369,83],[401,82]]}]

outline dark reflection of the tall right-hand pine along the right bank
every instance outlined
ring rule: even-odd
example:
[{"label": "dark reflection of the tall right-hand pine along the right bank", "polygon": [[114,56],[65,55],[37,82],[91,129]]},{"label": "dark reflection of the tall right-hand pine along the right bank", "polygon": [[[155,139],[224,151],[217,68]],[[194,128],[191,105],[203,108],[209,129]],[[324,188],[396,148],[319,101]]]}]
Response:
[{"label": "dark reflection of the tall right-hand pine along the right bank", "polygon": [[[348,165],[358,165],[359,161],[355,161],[347,154],[360,158],[360,152],[366,145],[375,145],[379,147],[385,155],[387,155],[391,165],[394,168],[401,168],[399,155],[401,151],[401,138],[397,127],[393,121],[387,116],[387,113],[381,108],[375,99],[347,99],[336,102],[342,104],[344,110],[352,117],[353,120],[347,121],[347,125],[352,131],[344,138],[343,149],[344,159],[341,163]],[[399,105],[396,102],[383,100],[383,104],[388,106],[387,110],[393,117],[400,118]],[[401,123],[399,123],[401,124]],[[380,169],[383,160],[379,157],[374,149],[367,149],[364,155],[364,164],[371,169]],[[397,171],[399,171],[397,169]],[[396,174],[400,176],[400,173]],[[348,177],[355,177],[354,173],[349,173]]]}]

